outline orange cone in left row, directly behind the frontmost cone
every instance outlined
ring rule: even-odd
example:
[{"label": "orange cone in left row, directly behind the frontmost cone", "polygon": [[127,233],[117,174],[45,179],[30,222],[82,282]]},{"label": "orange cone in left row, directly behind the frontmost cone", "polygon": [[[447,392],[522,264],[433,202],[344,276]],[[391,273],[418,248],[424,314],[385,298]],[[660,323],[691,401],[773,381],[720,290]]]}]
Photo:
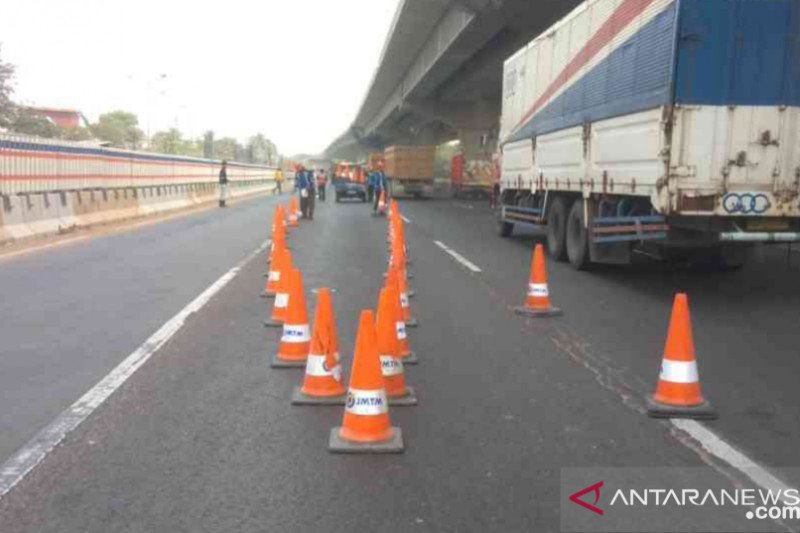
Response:
[{"label": "orange cone in left row, directly behind the frontmost cone", "polygon": [[303,386],[295,387],[292,392],[293,404],[344,405],[347,390],[342,385],[342,367],[339,364],[337,344],[331,291],[319,289],[311,352],[306,361]]}]

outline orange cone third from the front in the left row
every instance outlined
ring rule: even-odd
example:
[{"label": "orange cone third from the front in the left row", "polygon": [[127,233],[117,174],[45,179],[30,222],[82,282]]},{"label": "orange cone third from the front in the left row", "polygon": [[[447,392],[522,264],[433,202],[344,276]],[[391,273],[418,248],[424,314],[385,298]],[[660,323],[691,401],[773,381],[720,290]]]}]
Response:
[{"label": "orange cone third from the front in the left row", "polygon": [[311,351],[311,331],[308,327],[306,296],[303,292],[303,275],[294,269],[289,274],[289,306],[283,322],[283,335],[278,353],[272,360],[273,368],[304,367]]}]

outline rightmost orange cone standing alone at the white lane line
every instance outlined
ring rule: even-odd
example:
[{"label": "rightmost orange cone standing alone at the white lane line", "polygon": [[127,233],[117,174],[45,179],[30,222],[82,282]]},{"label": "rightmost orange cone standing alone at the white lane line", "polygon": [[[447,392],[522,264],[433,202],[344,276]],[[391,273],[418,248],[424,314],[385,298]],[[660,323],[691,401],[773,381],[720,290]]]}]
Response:
[{"label": "rightmost orange cone standing alone at the white lane line", "polygon": [[716,410],[700,391],[689,300],[684,293],[676,294],[672,304],[658,386],[647,399],[647,414],[656,418],[717,418]]}]

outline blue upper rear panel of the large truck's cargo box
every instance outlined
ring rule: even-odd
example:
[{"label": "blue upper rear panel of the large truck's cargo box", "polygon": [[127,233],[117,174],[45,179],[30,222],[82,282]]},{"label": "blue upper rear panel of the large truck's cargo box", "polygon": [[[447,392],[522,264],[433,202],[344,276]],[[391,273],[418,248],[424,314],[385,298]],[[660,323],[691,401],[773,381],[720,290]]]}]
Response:
[{"label": "blue upper rear panel of the large truck's cargo box", "polygon": [[800,105],[800,1],[680,2],[676,103]]}]

